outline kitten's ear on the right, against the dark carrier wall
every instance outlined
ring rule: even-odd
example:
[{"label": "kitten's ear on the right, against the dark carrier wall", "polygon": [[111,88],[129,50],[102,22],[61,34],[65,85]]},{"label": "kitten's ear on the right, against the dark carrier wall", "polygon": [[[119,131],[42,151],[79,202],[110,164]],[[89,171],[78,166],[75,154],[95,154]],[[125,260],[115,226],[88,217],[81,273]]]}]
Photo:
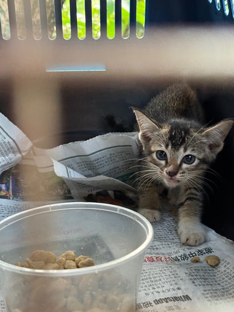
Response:
[{"label": "kitten's ear on the right, against the dark carrier wall", "polygon": [[224,140],[231,130],[233,124],[234,120],[232,119],[223,120],[203,132],[203,136],[205,136],[205,138],[208,140],[209,149],[212,153],[218,154],[222,150]]}]

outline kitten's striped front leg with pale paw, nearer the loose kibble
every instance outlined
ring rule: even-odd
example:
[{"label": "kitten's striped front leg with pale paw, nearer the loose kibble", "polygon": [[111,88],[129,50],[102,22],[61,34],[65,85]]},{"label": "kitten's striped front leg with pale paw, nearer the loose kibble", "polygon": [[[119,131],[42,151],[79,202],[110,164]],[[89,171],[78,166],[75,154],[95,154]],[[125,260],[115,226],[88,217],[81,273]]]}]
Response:
[{"label": "kitten's striped front leg with pale paw, nearer the loose kibble", "polygon": [[180,242],[197,246],[206,241],[206,233],[200,223],[201,198],[188,196],[179,208],[178,234]]}]

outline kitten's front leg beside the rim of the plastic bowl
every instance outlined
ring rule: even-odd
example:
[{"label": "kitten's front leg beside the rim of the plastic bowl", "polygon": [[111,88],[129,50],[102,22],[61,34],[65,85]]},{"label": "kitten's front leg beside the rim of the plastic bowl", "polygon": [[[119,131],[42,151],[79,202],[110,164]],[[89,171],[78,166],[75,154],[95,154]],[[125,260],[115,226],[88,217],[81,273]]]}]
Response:
[{"label": "kitten's front leg beside the rim of the plastic bowl", "polygon": [[146,217],[150,222],[159,221],[161,218],[159,204],[159,190],[156,186],[139,189],[138,213]]}]

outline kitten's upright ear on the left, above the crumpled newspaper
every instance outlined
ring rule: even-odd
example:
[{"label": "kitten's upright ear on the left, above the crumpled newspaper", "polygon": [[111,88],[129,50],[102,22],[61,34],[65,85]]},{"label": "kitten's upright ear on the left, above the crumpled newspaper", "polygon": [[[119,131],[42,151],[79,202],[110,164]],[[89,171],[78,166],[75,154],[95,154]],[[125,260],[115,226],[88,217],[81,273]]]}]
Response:
[{"label": "kitten's upright ear on the left, above the crumpled newspaper", "polygon": [[139,140],[142,144],[149,143],[152,140],[152,134],[159,131],[159,126],[157,126],[150,118],[146,117],[145,114],[133,108],[133,111],[137,117],[137,122],[139,126]]}]

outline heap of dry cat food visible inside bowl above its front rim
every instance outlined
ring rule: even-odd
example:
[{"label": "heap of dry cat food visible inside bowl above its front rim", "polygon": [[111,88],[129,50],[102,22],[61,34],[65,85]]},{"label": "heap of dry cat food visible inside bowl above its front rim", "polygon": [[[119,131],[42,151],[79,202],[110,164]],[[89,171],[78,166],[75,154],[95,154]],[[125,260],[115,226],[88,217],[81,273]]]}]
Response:
[{"label": "heap of dry cat food visible inside bowl above its front rim", "polygon": [[26,263],[16,263],[17,266],[29,269],[64,270],[78,269],[94,266],[94,260],[86,255],[76,257],[74,251],[68,250],[58,258],[56,254],[44,250],[35,250]]}]

